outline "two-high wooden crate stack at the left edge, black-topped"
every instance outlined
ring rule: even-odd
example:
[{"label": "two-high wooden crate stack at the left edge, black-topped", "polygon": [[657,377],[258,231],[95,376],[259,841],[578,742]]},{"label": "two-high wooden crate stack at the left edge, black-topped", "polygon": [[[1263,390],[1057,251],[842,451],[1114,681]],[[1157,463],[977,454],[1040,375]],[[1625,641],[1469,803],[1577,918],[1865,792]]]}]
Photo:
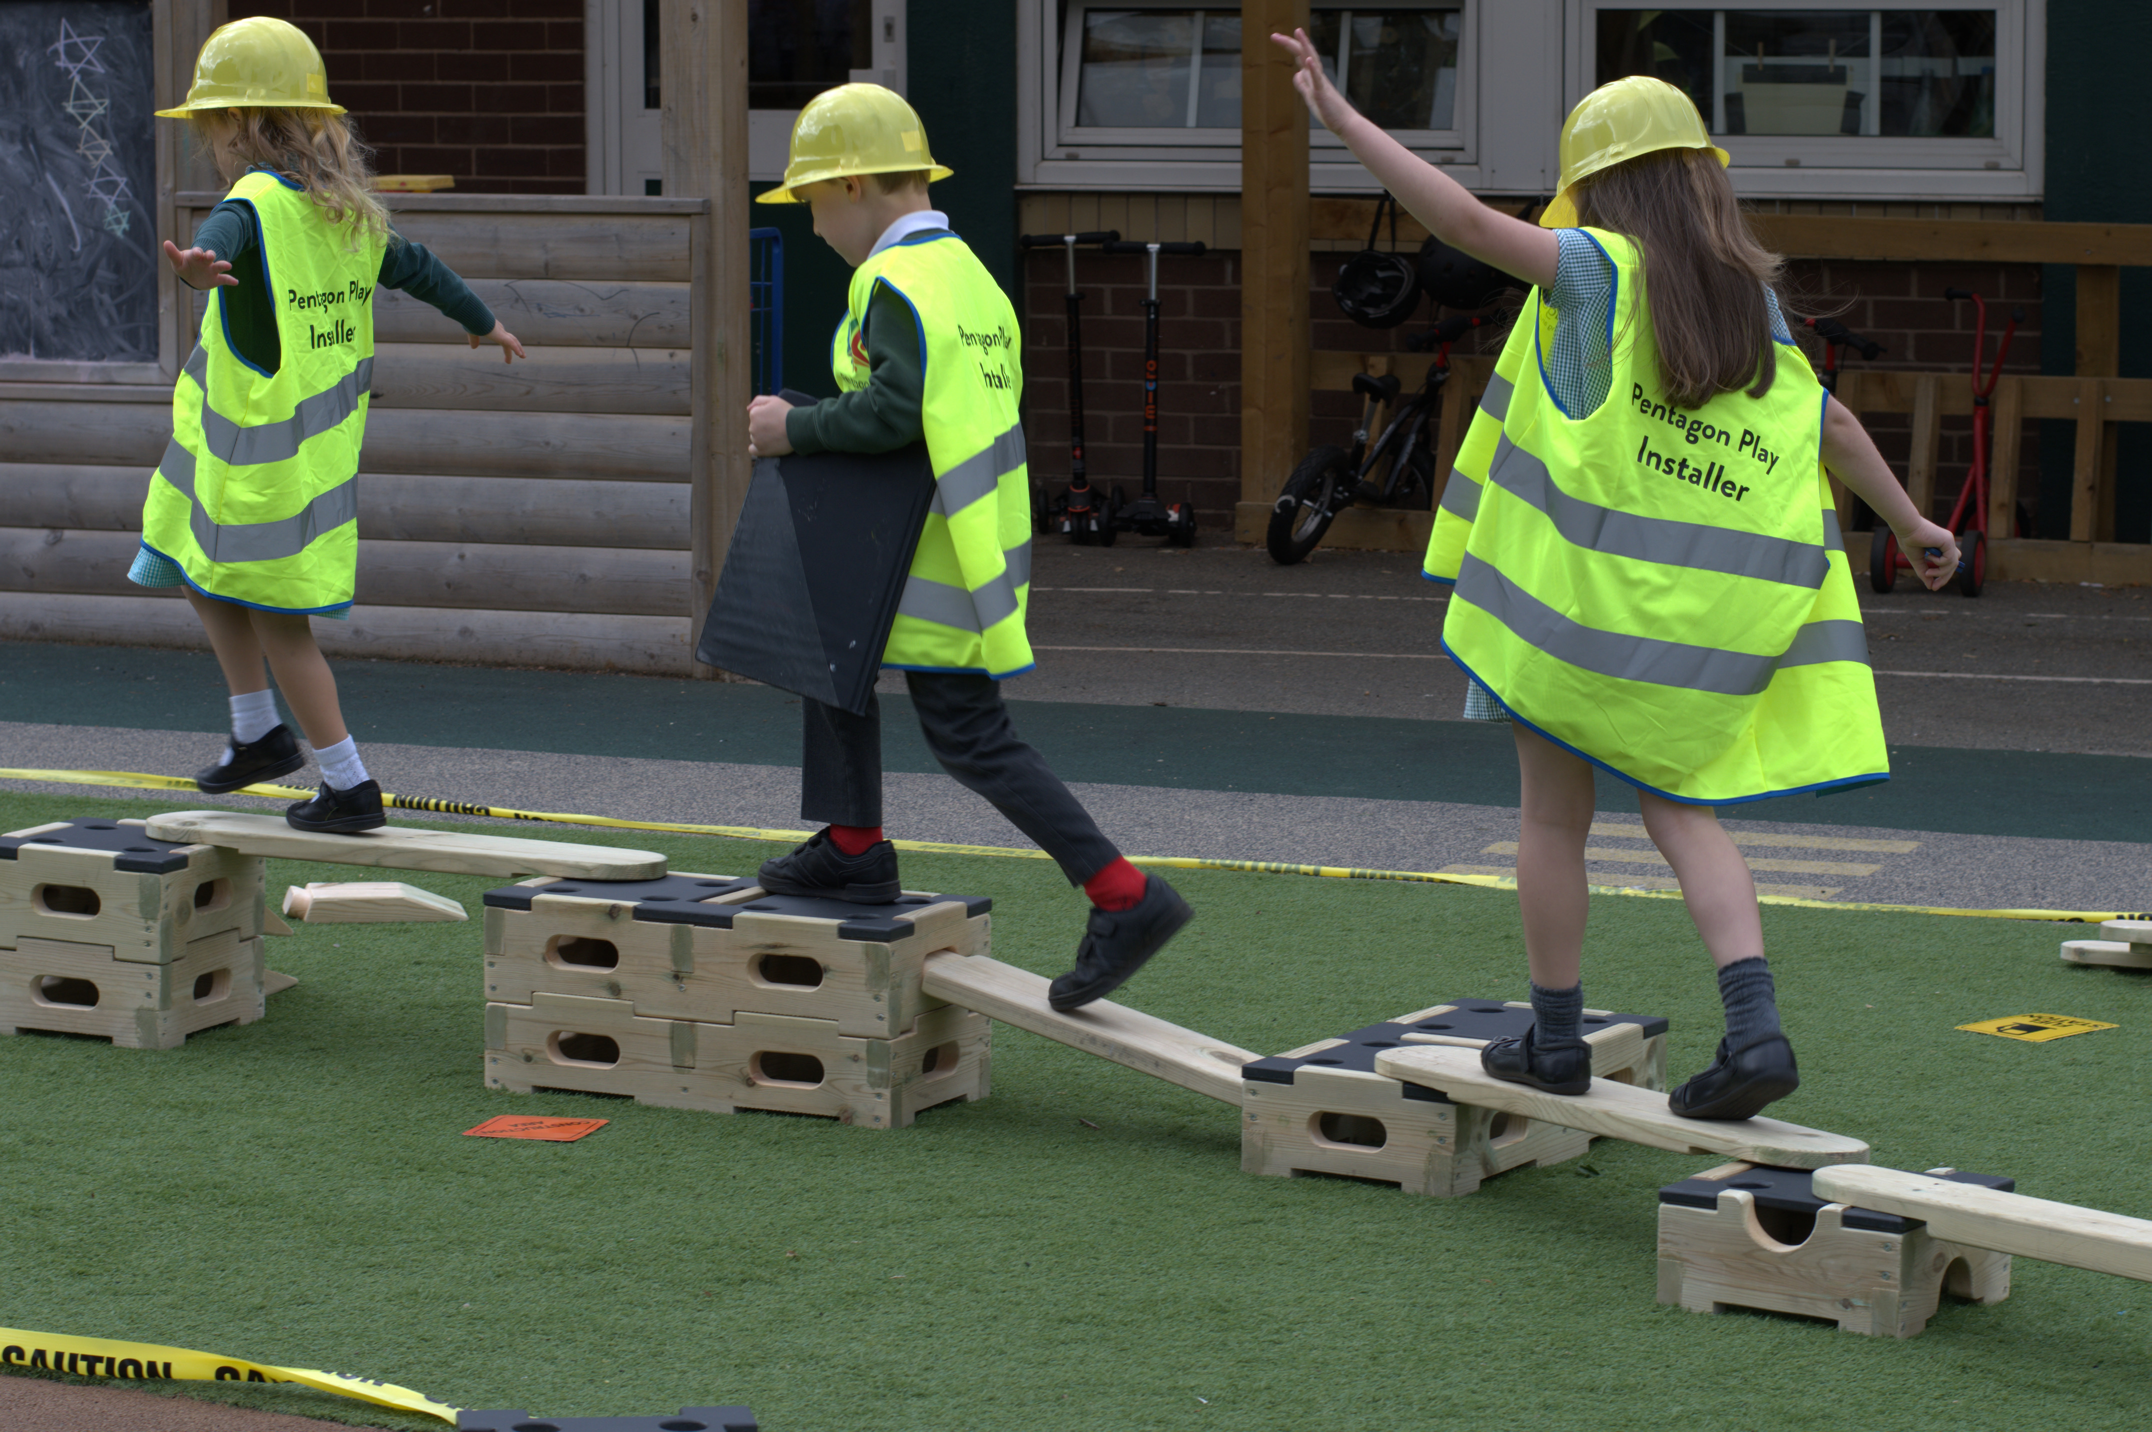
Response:
[{"label": "two-high wooden crate stack at the left edge, black-topped", "polygon": [[263,861],[142,820],[0,836],[0,1034],[172,1049],[263,1016]]}]

